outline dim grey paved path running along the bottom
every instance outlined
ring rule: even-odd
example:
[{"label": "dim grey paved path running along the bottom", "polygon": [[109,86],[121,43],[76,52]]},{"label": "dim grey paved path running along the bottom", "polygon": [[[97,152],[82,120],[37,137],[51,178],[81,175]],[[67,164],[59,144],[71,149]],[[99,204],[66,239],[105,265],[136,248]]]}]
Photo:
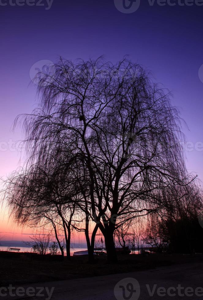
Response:
[{"label": "dim grey paved path running along the bottom", "polygon": [[[105,266],[104,266],[105,268]],[[98,276],[83,279],[72,279],[60,282],[39,283],[32,285],[38,293],[37,287],[42,287],[43,297],[27,295],[21,297],[0,297],[0,299],[51,299],[51,300],[147,300],[147,299],[203,299],[203,263],[199,264],[184,264],[172,267],[157,268],[155,270],[130,272],[125,274],[116,274],[108,276]],[[131,278],[131,279],[126,279]],[[132,279],[134,278],[134,279]],[[138,283],[137,283],[137,281]],[[121,281],[122,280],[122,281]],[[118,283],[121,281],[120,283]],[[118,284],[117,284],[118,283]],[[128,286],[127,286],[128,284]],[[148,285],[148,286],[146,286]],[[154,286],[155,285],[155,286]],[[116,287],[115,287],[116,286]],[[127,289],[126,289],[127,286]],[[54,287],[53,294],[47,297],[44,287],[49,291]],[[153,296],[149,292],[153,290]],[[159,287],[161,289],[157,290]],[[170,288],[171,287],[171,288]],[[179,289],[177,289],[179,287]],[[196,290],[197,287],[202,287],[201,290]],[[25,290],[28,286],[23,287]],[[168,290],[165,294],[165,288]],[[188,289],[186,289],[188,288]],[[140,289],[140,296],[139,296]],[[186,290],[185,290],[186,289]],[[136,292],[134,292],[136,290]],[[149,290],[149,291],[148,291]],[[5,292],[5,291],[2,291]],[[13,291],[15,292],[15,291]],[[33,291],[32,291],[33,292]],[[123,294],[124,292],[124,294]],[[160,295],[157,294],[160,293]],[[198,293],[197,293],[198,292]],[[48,292],[49,293],[49,292]],[[132,294],[131,298],[130,293]],[[171,295],[170,295],[171,293]],[[192,294],[194,294],[192,296]],[[202,296],[199,296],[202,294]],[[115,297],[116,295],[116,297]],[[173,295],[173,296],[172,296]],[[190,297],[189,297],[190,295]]]}]

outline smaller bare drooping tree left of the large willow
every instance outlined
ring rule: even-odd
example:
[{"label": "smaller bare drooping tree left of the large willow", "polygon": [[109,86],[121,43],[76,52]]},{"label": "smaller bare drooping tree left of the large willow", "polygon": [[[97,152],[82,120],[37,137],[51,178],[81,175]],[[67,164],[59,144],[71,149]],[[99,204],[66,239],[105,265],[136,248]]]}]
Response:
[{"label": "smaller bare drooping tree left of the large willow", "polygon": [[5,199],[10,215],[20,225],[52,227],[62,255],[61,237],[66,240],[66,253],[70,258],[72,220],[76,211],[77,194],[72,183],[70,164],[39,166],[27,165],[13,172],[7,180]]}]

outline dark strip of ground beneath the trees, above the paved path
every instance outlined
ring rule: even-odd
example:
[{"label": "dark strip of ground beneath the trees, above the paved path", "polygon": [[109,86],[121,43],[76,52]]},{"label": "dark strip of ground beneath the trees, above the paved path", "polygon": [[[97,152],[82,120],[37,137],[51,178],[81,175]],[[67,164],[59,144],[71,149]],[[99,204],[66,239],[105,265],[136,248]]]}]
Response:
[{"label": "dark strip of ground beneath the trees, above the paved path", "polygon": [[87,256],[62,260],[60,256],[40,256],[33,253],[0,252],[1,286],[24,285],[48,281],[102,276],[116,273],[155,269],[173,264],[203,262],[203,255],[143,254],[121,255],[117,264],[107,264],[105,257],[98,256],[94,264]]}]

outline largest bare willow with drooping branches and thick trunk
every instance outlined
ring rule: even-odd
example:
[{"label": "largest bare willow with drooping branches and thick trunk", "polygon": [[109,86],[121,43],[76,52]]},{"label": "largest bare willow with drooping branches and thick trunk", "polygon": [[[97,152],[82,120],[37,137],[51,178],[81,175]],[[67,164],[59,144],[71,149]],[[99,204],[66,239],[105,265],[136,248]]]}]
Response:
[{"label": "largest bare willow with drooping branches and thick trunk", "polygon": [[170,93],[127,59],[60,59],[49,71],[36,78],[41,104],[19,117],[30,161],[77,156],[88,213],[104,236],[107,260],[116,262],[117,219],[156,211],[164,205],[159,191],[186,181],[181,119]]}]

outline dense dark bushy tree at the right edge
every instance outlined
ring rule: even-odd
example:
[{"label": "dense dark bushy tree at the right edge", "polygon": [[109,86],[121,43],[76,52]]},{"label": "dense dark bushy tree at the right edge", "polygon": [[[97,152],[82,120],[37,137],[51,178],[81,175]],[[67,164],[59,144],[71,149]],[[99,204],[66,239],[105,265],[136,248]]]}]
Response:
[{"label": "dense dark bushy tree at the right edge", "polygon": [[[164,190],[163,208],[148,223],[147,243],[159,252],[194,253],[203,251],[202,224],[198,218],[202,214],[202,192],[194,182],[186,186],[171,186]],[[167,198],[167,200],[166,200]]]}]

